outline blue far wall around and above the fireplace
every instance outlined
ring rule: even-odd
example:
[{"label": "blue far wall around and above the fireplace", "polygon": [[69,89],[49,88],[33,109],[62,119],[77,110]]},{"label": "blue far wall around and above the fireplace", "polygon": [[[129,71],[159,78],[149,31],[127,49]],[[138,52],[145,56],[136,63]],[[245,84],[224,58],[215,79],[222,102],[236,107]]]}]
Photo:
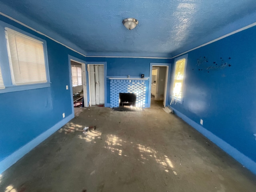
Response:
[{"label": "blue far wall around and above the fireplace", "polygon": [[[149,77],[150,63],[170,63],[170,59],[152,58],[94,58],[88,57],[86,61],[107,62],[107,77],[137,77],[141,74]],[[149,81],[148,81],[149,82]],[[146,104],[148,104],[148,82],[146,83]],[[110,103],[110,80],[107,79],[107,103]]]}]

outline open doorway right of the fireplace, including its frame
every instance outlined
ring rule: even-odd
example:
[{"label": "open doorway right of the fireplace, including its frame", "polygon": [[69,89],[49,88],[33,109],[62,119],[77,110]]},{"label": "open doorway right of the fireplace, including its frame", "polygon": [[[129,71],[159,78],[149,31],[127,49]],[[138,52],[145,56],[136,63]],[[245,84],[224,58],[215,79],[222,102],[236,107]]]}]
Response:
[{"label": "open doorway right of the fireplace, including its frame", "polygon": [[166,106],[169,66],[166,64],[150,63],[150,108]]}]

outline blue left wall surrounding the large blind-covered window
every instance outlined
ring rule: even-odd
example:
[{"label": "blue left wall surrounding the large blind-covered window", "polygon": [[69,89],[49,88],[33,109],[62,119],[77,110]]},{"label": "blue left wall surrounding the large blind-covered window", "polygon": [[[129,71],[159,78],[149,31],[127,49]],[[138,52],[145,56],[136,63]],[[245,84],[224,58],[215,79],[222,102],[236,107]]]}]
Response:
[{"label": "blue left wall surrounding the large blind-covered window", "polygon": [[[47,42],[51,86],[0,94],[0,172],[1,161],[28,142],[72,115],[68,54],[85,58],[5,17],[0,20],[38,36]],[[4,71],[2,71],[4,73]],[[60,128],[60,127],[59,127]]]}]

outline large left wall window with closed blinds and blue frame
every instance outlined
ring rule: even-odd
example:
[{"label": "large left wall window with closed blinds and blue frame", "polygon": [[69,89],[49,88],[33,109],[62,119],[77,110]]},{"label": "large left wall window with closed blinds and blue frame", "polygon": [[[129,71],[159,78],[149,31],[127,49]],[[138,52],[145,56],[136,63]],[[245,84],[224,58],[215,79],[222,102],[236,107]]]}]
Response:
[{"label": "large left wall window with closed blinds and blue frame", "polygon": [[4,22],[0,26],[0,93],[49,87],[46,41]]}]

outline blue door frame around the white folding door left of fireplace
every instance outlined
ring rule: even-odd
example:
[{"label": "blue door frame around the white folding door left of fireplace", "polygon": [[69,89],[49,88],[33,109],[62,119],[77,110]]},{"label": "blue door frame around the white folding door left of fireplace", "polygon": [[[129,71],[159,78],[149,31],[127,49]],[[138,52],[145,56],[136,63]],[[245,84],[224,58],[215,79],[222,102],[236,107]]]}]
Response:
[{"label": "blue door frame around the white folding door left of fireplace", "polygon": [[89,78],[89,65],[104,65],[104,107],[107,107],[107,62],[90,62],[86,61],[86,78],[87,78],[87,97],[89,98],[88,106],[90,107],[91,93],[90,93],[90,78]]}]

